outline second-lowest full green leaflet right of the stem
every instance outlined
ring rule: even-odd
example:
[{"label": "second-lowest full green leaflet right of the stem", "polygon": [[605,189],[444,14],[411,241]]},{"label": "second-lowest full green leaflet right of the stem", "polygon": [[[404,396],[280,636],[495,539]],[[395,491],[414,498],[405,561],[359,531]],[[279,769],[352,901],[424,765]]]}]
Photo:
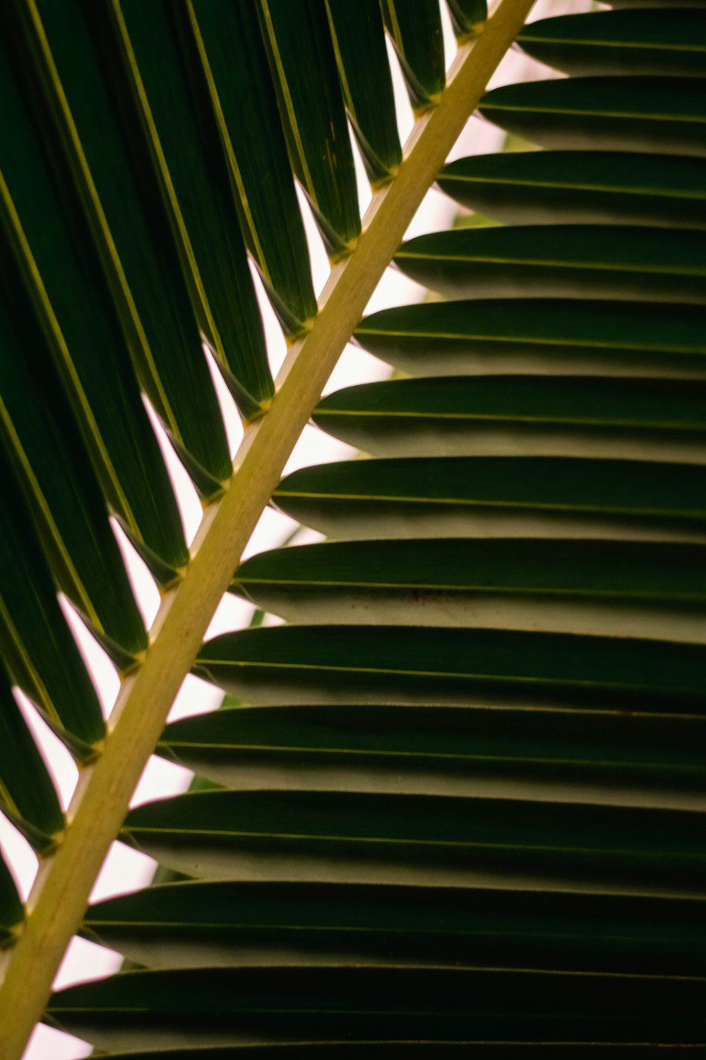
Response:
[{"label": "second-lowest full green leaflet right of the stem", "polygon": [[258,951],[268,965],[286,947],[292,964],[424,953],[428,967],[453,955],[456,967],[703,974],[706,941],[703,903],[688,900],[319,882],[167,884],[94,905],[86,926],[151,968],[245,964]]}]

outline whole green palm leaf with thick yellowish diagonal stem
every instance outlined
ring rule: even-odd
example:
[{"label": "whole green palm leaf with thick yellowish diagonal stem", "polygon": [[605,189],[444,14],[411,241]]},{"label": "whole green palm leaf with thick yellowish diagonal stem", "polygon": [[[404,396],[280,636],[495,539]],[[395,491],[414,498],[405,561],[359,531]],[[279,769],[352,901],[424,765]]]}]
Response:
[{"label": "whole green palm leaf with thick yellowish diagonal stem", "polygon": [[[442,190],[501,224],[395,254],[529,3],[448,78],[436,3],[382,5],[423,111],[401,162],[373,6],[143,6],[2,13],[25,152],[3,184],[6,349],[33,335],[56,378],[28,373],[11,406],[2,377],[2,658],[88,763],[62,830],[3,683],[0,791],[43,854],[29,915],[0,862],[3,1058],[77,930],[141,967],[46,1018],[113,1056],[703,1044],[703,18],[526,28],[571,76],[479,110],[550,149],[452,163]],[[484,6],[450,4],[461,41]],[[384,184],[362,227],[346,112]],[[293,176],[337,262],[313,322]],[[245,247],[293,342],[274,398]],[[359,323],[394,254],[455,300]],[[278,481],[354,329],[424,378],[325,399],[315,423],[372,459]],[[203,340],[253,421],[233,476]],[[210,501],[188,561],[138,381]],[[238,566],[270,497],[338,541]],[[146,653],[122,567],[82,545],[108,512],[170,586]],[[57,585],[125,673],[107,738]],[[201,644],[229,587],[289,624]],[[241,703],[164,729],[192,666]],[[158,741],[200,790],[126,817]],[[119,834],[181,878],[86,912]]]}]

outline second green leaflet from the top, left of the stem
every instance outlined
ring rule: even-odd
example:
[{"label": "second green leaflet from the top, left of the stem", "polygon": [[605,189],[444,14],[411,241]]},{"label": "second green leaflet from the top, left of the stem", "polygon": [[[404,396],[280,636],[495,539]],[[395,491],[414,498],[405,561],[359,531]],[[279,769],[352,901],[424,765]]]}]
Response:
[{"label": "second green leaflet from the top, left of the stem", "polygon": [[446,85],[443,33],[438,0],[381,0],[415,112],[434,106]]}]

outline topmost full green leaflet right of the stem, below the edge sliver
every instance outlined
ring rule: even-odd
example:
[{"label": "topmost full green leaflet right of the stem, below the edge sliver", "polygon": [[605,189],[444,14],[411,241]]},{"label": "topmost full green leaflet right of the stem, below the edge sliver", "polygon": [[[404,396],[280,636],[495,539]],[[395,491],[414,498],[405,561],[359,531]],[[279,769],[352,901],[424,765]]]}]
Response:
[{"label": "topmost full green leaflet right of the stem, below the edge sliver", "polygon": [[706,24],[675,4],[659,12],[592,12],[530,22],[518,43],[540,63],[572,75],[706,74]]}]

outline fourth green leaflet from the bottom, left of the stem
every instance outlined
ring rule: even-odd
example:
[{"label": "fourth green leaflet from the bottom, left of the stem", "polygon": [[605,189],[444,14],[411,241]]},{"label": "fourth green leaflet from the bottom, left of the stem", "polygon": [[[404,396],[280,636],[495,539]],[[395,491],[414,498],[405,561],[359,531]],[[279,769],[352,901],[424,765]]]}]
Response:
[{"label": "fourth green leaflet from the bottom, left of the stem", "polygon": [[[147,647],[142,617],[44,334],[13,263],[2,257],[0,444],[56,581],[117,666],[127,669]],[[30,653],[31,646],[32,638]]]}]

